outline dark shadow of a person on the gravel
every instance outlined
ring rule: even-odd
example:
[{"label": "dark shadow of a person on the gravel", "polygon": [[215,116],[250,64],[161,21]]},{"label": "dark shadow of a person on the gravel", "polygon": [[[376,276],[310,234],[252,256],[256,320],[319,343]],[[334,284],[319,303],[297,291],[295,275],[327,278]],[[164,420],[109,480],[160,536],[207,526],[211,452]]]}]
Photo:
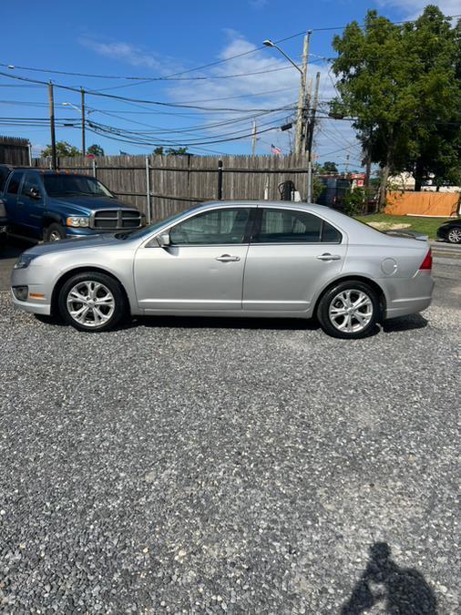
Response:
[{"label": "dark shadow of a person on the gravel", "polygon": [[377,604],[392,615],[437,613],[435,595],[423,575],[415,569],[397,566],[391,559],[391,549],[386,542],[375,542],[371,546],[364,574],[341,613],[359,615]]}]

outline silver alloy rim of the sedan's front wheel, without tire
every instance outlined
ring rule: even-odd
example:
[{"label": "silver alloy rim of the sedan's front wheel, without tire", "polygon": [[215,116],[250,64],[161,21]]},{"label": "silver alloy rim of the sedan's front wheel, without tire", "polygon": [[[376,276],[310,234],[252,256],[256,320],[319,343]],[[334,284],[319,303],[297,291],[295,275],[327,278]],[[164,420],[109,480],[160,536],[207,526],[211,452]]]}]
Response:
[{"label": "silver alloy rim of the sedan's front wheel, without tire", "polygon": [[108,323],[116,308],[114,295],[101,282],[78,282],[67,293],[67,312],[88,328]]}]

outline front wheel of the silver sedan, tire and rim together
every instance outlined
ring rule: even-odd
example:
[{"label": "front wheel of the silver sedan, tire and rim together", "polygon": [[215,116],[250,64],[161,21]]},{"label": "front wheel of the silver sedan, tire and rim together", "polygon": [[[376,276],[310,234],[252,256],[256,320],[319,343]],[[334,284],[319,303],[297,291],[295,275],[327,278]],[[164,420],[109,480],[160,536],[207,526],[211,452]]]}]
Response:
[{"label": "front wheel of the silver sedan, tire and rim together", "polygon": [[114,329],[126,313],[120,284],[100,272],[77,273],[59,292],[59,312],[79,331]]}]

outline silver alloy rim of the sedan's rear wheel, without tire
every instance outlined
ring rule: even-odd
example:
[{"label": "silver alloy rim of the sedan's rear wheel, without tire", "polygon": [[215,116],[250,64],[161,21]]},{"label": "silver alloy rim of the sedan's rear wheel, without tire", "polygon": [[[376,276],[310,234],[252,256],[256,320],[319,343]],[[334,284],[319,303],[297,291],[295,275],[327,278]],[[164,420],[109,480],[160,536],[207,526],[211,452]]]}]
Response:
[{"label": "silver alloy rim of the sedan's rear wheel, without tire", "polygon": [[359,333],[371,322],[374,307],[364,291],[348,289],[338,292],[328,310],[333,327],[343,333]]}]

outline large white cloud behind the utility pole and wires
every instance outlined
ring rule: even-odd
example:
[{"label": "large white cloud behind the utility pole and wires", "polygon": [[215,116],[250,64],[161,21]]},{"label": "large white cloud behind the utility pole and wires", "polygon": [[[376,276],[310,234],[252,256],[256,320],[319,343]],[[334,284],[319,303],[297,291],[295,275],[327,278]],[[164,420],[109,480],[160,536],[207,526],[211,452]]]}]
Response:
[{"label": "large white cloud behind the utility pole and wires", "polygon": [[[223,47],[220,52],[219,59],[227,59],[232,56],[239,56],[230,59],[228,62],[220,64],[216,67],[210,67],[206,73],[200,72],[190,73],[188,77],[224,77],[227,75],[240,75],[253,73],[246,77],[238,78],[216,78],[207,79],[203,81],[185,81],[177,82],[174,86],[169,87],[169,97],[179,103],[197,104],[202,107],[209,108],[235,108],[241,109],[274,109],[282,108],[284,106],[295,107],[298,99],[298,87],[300,83],[300,75],[294,67],[289,65],[287,61],[277,52],[276,49],[261,49],[255,51],[256,46],[247,41],[239,33],[227,31],[226,34],[229,37],[229,42]],[[298,61],[299,58],[293,57]],[[333,87],[333,75],[329,75],[329,65],[315,56],[312,56],[312,63],[309,66],[308,78],[314,80],[317,71],[321,73],[321,86],[320,86],[320,101],[321,108],[319,110],[319,116],[324,116],[326,111],[326,101],[335,96]],[[280,70],[282,68],[282,70]],[[260,74],[254,74],[260,73]],[[258,96],[260,93],[267,92],[262,96]],[[312,87],[313,93],[313,87]],[[218,98],[219,100],[210,100]],[[257,113],[257,111],[255,111]],[[249,112],[250,114],[250,112]],[[261,116],[257,118],[257,126],[259,130],[269,128],[271,125],[281,126],[286,119],[294,119],[295,110],[286,109],[274,112],[268,116]],[[206,124],[208,128],[200,128],[197,130],[197,134],[190,133],[190,139],[192,138],[219,138],[218,135],[223,133],[231,133],[237,130],[241,130],[242,134],[251,133],[251,119],[242,121],[236,125],[229,125],[227,127],[213,128],[210,125],[228,120],[231,118],[238,118],[241,113],[207,113],[203,112],[201,120],[194,122],[194,124]],[[318,153],[320,155],[324,152],[328,152],[334,149],[343,149],[344,147],[350,147],[351,141],[353,142],[353,131],[350,125],[343,125],[339,130],[333,130],[330,125],[333,123],[330,120],[325,120],[325,130],[319,131],[316,136],[316,144]],[[335,122],[339,124],[340,122]],[[320,122],[322,128],[323,121]],[[294,132],[294,126],[293,126]],[[251,150],[251,138],[246,138],[242,141]],[[287,132],[281,132],[280,130],[273,130],[266,133],[262,133],[258,140],[258,153],[270,153],[271,143],[282,147],[283,152],[288,152],[290,149],[289,135]],[[204,146],[207,147],[207,146]],[[230,146],[226,143],[210,145],[210,149],[227,149]],[[351,149],[349,153],[353,153],[355,150]],[[343,160],[348,151],[344,150],[344,153],[339,153],[337,157],[333,156],[333,159]],[[343,157],[343,158],[342,158]],[[355,165],[356,166],[356,165]]]}]

